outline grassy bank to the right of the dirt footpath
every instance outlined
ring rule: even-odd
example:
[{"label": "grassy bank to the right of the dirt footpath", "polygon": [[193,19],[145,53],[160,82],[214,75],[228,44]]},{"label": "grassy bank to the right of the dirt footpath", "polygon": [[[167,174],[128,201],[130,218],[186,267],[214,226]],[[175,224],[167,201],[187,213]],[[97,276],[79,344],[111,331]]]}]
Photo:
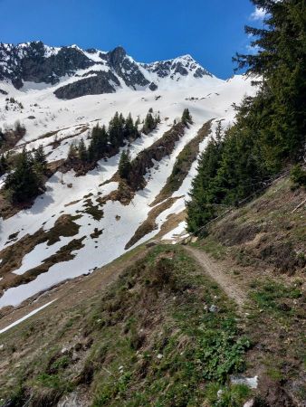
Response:
[{"label": "grassy bank to the right of the dirt footpath", "polygon": [[248,366],[260,375],[260,392],[271,406],[301,406],[306,397],[305,197],[283,178],[212,223],[206,239],[195,243],[248,297]]}]

